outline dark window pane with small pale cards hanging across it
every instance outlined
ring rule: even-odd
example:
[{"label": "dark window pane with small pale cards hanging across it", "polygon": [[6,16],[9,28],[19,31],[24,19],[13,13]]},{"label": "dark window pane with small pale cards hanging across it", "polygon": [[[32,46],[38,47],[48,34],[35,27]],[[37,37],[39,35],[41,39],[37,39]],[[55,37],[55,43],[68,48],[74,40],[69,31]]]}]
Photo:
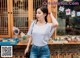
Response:
[{"label": "dark window pane with small pale cards hanging across it", "polygon": [[58,5],[57,19],[59,27],[58,35],[80,35],[80,1],[72,1],[76,5],[69,5],[69,2],[58,1],[58,3],[67,3],[67,5]]}]

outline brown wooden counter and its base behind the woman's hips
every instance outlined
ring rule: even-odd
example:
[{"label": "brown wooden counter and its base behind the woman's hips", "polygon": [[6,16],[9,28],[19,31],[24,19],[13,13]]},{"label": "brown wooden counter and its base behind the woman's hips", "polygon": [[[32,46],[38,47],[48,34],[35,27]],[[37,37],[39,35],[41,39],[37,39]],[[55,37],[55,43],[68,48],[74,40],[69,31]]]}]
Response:
[{"label": "brown wooden counter and its base behind the woman's hips", "polygon": [[[19,41],[17,45],[14,45],[12,58],[26,58],[24,57],[26,45],[26,41]],[[77,58],[80,58],[80,42],[53,43],[53,41],[50,40],[49,48],[50,58],[73,58],[77,55]],[[29,58],[28,56],[27,58]]]}]

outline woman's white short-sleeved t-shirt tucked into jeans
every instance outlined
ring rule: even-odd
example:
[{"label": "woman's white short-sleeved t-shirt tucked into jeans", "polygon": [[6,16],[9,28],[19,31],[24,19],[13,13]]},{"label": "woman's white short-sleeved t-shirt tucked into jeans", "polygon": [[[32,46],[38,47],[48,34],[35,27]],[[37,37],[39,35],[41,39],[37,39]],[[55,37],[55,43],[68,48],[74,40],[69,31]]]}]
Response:
[{"label": "woman's white short-sleeved t-shirt tucked into jeans", "polygon": [[54,32],[50,23],[46,23],[45,25],[38,26],[36,21],[31,23],[29,31],[27,35],[32,37],[32,44],[36,46],[44,46],[48,44],[48,40],[50,39],[51,35]]}]

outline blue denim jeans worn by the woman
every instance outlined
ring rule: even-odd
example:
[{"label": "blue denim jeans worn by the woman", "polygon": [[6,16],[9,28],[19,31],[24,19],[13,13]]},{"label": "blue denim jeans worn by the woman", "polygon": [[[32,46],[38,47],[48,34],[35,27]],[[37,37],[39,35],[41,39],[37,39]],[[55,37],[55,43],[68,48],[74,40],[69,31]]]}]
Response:
[{"label": "blue denim jeans worn by the woman", "polygon": [[30,58],[50,58],[50,50],[48,45],[45,46],[32,45]]}]

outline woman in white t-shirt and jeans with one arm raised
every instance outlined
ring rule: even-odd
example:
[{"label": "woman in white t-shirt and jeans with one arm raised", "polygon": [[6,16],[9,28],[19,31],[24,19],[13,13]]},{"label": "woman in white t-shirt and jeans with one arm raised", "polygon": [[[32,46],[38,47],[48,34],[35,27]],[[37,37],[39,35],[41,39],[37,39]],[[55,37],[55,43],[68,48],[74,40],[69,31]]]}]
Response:
[{"label": "woman in white t-shirt and jeans with one arm raised", "polygon": [[52,13],[49,13],[52,23],[47,22],[48,9],[42,6],[37,9],[36,21],[33,21],[27,33],[29,42],[25,49],[25,54],[29,50],[32,41],[32,48],[30,51],[30,58],[50,58],[50,50],[48,48],[48,40],[58,26],[57,20]]}]

